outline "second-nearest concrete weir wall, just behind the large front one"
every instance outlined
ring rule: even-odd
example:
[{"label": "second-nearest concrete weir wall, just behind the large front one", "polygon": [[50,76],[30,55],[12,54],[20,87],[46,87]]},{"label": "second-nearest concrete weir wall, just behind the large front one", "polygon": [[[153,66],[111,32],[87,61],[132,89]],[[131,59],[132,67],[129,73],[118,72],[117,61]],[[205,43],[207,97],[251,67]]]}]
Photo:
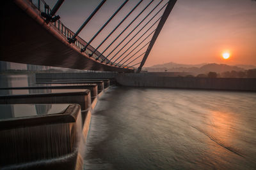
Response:
[{"label": "second-nearest concrete weir wall, just behind the large front one", "polygon": [[80,104],[83,122],[86,117],[85,111],[90,109],[92,103],[90,90],[84,89],[32,89],[9,92],[9,95],[0,96],[0,104]]}]

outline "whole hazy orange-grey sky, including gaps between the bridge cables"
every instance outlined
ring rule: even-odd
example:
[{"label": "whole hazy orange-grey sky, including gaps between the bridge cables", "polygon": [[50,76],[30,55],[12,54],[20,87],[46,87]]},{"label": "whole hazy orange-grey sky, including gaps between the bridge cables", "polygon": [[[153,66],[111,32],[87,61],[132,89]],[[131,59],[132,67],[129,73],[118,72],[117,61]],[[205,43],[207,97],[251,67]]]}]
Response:
[{"label": "whole hazy orange-grey sky, including gaps between the bridge cables", "polygon": [[[138,3],[139,0],[130,0],[129,3],[116,15],[113,21],[102,31],[92,45],[97,47],[99,43],[108,35],[122,18]],[[108,0],[100,9],[99,13],[93,17],[84,30],[79,34],[81,38],[89,41],[93,34],[108,20],[114,11],[124,1]],[[154,1],[147,11],[138,18],[132,27],[127,30],[124,36],[121,36],[115,47],[142,20],[148,11],[152,10],[159,0]],[[164,1],[164,3],[167,0]],[[47,3],[54,4],[54,1],[48,0]],[[92,13],[93,9],[100,3],[100,0],[78,1],[66,0],[58,11],[61,21],[72,31],[76,32],[84,20]],[[106,46],[118,35],[131,20],[142,10],[149,0],[143,1],[134,13],[116,30],[115,34],[109,38],[104,45],[99,48],[102,52]],[[158,11],[163,4],[156,9]],[[156,13],[156,12],[155,12]],[[154,15],[150,15],[151,17]],[[161,13],[150,23],[161,16]],[[145,24],[149,17],[143,24]],[[142,26],[141,24],[131,38]],[[147,29],[150,24],[145,28]],[[152,27],[152,31],[154,27]],[[151,31],[148,32],[148,34]],[[146,37],[148,34],[145,34]],[[141,34],[138,34],[139,36]],[[136,36],[138,38],[139,36]],[[134,38],[134,39],[136,39]],[[151,36],[149,37],[151,38]],[[129,39],[128,39],[129,40]],[[141,41],[143,38],[141,39]],[[150,39],[147,39],[141,46],[145,45]],[[133,41],[127,45],[131,46]],[[140,42],[140,41],[139,41]],[[122,47],[122,46],[121,46]],[[135,46],[134,46],[135,47]],[[125,51],[124,48],[123,51]],[[113,48],[104,53],[108,55]],[[120,49],[120,48],[118,48]],[[118,49],[115,52],[118,52]],[[132,50],[133,48],[131,48]],[[137,48],[140,49],[140,46]],[[140,53],[145,52],[146,48]],[[123,52],[122,51],[122,52]],[[231,57],[228,60],[221,58],[221,53],[228,51]],[[109,57],[112,57],[112,53]],[[118,57],[122,52],[118,53]],[[136,52],[136,50],[134,50]],[[129,51],[127,52],[129,53]],[[138,55],[140,54],[138,53]],[[124,56],[126,53],[124,54]],[[135,55],[134,57],[138,56]],[[114,60],[116,59],[114,58]],[[142,57],[136,61],[140,62]],[[182,64],[199,64],[202,62],[216,62],[225,64],[253,64],[256,65],[256,1],[251,0],[178,0],[172,13],[170,14],[163,30],[159,34],[157,41],[148,56],[145,66],[154,64],[163,64],[166,62],[178,62]]]}]

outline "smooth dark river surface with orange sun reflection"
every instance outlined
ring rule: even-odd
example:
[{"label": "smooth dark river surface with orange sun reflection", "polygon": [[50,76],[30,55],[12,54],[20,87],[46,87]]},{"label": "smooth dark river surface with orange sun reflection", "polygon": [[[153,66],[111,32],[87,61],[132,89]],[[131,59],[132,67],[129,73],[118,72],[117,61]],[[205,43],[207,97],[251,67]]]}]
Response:
[{"label": "smooth dark river surface with orange sun reflection", "polygon": [[256,93],[109,89],[86,150],[85,169],[256,169]]}]

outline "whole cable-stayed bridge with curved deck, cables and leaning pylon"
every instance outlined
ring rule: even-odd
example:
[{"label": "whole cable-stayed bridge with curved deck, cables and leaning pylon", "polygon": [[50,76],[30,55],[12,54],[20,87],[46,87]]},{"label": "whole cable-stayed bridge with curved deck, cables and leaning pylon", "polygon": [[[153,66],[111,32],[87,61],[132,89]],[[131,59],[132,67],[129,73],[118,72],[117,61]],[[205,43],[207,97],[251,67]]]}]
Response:
[{"label": "whole cable-stayed bridge with curved deck, cables and leaning pylon", "polygon": [[[92,22],[93,16],[100,11],[106,0],[100,2],[76,32],[66,27],[61,22],[60,16],[56,15],[63,1],[58,0],[52,9],[44,0],[4,2],[1,11],[3,21],[0,60],[72,69],[120,73],[131,73],[137,69],[140,72],[177,0],[161,0],[156,4],[151,0],[146,6],[141,6],[143,0],[138,1],[96,48],[91,45],[92,41],[106,29],[106,25],[113,18],[122,12],[122,8],[129,0],[124,1],[88,41],[81,38],[79,33]],[[139,6],[143,10],[134,13]],[[150,11],[145,13],[147,9]],[[109,36],[131,17],[131,14],[135,14],[136,17],[125,25],[125,29],[113,41],[109,42]],[[140,15],[145,17],[139,20]],[[128,32],[130,29],[132,31]],[[122,36],[125,38],[122,39]],[[113,46],[115,42],[118,42],[118,45]],[[108,46],[99,52],[100,46],[104,43]],[[106,53],[108,49],[111,49],[111,52]]]}]

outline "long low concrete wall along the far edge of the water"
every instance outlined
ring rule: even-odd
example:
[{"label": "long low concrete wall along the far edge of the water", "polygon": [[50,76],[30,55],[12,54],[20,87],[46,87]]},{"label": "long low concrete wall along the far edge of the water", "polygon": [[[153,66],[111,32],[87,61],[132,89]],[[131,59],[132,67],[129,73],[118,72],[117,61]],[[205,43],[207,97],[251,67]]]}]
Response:
[{"label": "long low concrete wall along the far edge of the water", "polygon": [[129,87],[164,87],[170,89],[237,90],[256,92],[256,78],[199,78],[164,73],[36,73],[36,80],[108,78]]}]

